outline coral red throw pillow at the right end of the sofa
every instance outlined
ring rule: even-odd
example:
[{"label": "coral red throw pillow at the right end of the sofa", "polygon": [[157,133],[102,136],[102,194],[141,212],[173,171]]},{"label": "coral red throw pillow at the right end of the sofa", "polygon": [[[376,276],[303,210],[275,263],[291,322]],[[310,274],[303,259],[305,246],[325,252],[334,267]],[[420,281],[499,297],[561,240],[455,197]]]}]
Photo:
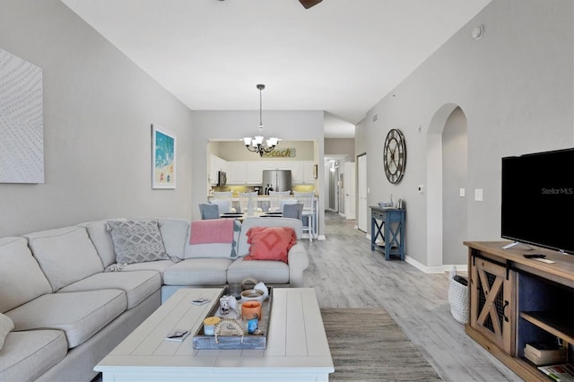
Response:
[{"label": "coral red throw pillow at the right end of the sofa", "polygon": [[297,242],[290,227],[253,227],[248,230],[249,255],[245,260],[279,260],[288,263],[289,249]]}]

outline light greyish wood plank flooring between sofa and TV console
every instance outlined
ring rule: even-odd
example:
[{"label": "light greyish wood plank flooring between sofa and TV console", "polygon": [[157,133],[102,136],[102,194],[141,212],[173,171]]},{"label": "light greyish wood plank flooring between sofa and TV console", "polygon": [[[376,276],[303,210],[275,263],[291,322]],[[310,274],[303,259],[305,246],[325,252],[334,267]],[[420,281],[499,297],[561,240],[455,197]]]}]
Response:
[{"label": "light greyish wood plank flooring between sofa and TV console", "polygon": [[[446,381],[521,381],[465,334],[450,314],[448,273],[423,273],[370,251],[355,221],[326,212],[326,240],[309,243],[305,286],[321,308],[382,307]],[[408,255],[408,254],[407,254]],[[357,317],[357,330],[361,320]]]}]

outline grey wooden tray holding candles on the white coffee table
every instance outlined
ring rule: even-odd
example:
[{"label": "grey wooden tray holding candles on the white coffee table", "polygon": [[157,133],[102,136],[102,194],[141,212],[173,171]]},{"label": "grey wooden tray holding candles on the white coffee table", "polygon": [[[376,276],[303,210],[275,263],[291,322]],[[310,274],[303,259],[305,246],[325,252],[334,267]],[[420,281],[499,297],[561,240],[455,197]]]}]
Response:
[{"label": "grey wooden tray holding candles on the white coffee table", "polygon": [[[268,287],[269,297],[261,304],[261,319],[258,326],[262,334],[248,334],[248,323],[241,319],[240,308],[239,317],[237,322],[243,330],[243,335],[232,334],[232,325],[222,324],[222,326],[229,326],[229,328],[222,328],[222,333],[217,336],[217,341],[214,335],[204,334],[204,324],[202,323],[194,335],[194,349],[265,349],[267,347],[267,334],[269,332],[269,318],[271,317],[271,307],[273,305],[273,287]],[[228,294],[228,289],[222,291],[220,297]],[[239,307],[238,301],[238,307]],[[221,316],[218,315],[219,302],[213,306],[206,317]]]}]

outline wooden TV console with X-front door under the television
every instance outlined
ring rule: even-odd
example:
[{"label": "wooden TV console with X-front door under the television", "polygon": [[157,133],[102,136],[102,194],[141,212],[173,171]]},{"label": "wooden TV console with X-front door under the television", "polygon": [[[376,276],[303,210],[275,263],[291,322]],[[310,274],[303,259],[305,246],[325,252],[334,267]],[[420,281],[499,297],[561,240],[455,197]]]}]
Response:
[{"label": "wooden TV console with X-front door under the television", "polygon": [[[465,241],[468,247],[469,321],[466,334],[520,378],[551,380],[524,358],[531,342],[574,343],[574,256],[508,241]],[[554,263],[528,259],[543,254]]]}]

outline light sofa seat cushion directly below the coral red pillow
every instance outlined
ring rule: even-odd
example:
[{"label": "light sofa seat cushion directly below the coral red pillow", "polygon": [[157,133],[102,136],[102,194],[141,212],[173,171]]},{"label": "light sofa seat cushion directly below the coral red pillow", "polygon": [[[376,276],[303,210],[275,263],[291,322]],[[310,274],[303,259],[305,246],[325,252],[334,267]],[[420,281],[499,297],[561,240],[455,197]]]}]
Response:
[{"label": "light sofa seat cushion directly below the coral red pillow", "polygon": [[239,257],[227,270],[228,282],[241,282],[248,277],[265,283],[289,283],[289,265],[283,261],[245,260],[245,257]]}]

